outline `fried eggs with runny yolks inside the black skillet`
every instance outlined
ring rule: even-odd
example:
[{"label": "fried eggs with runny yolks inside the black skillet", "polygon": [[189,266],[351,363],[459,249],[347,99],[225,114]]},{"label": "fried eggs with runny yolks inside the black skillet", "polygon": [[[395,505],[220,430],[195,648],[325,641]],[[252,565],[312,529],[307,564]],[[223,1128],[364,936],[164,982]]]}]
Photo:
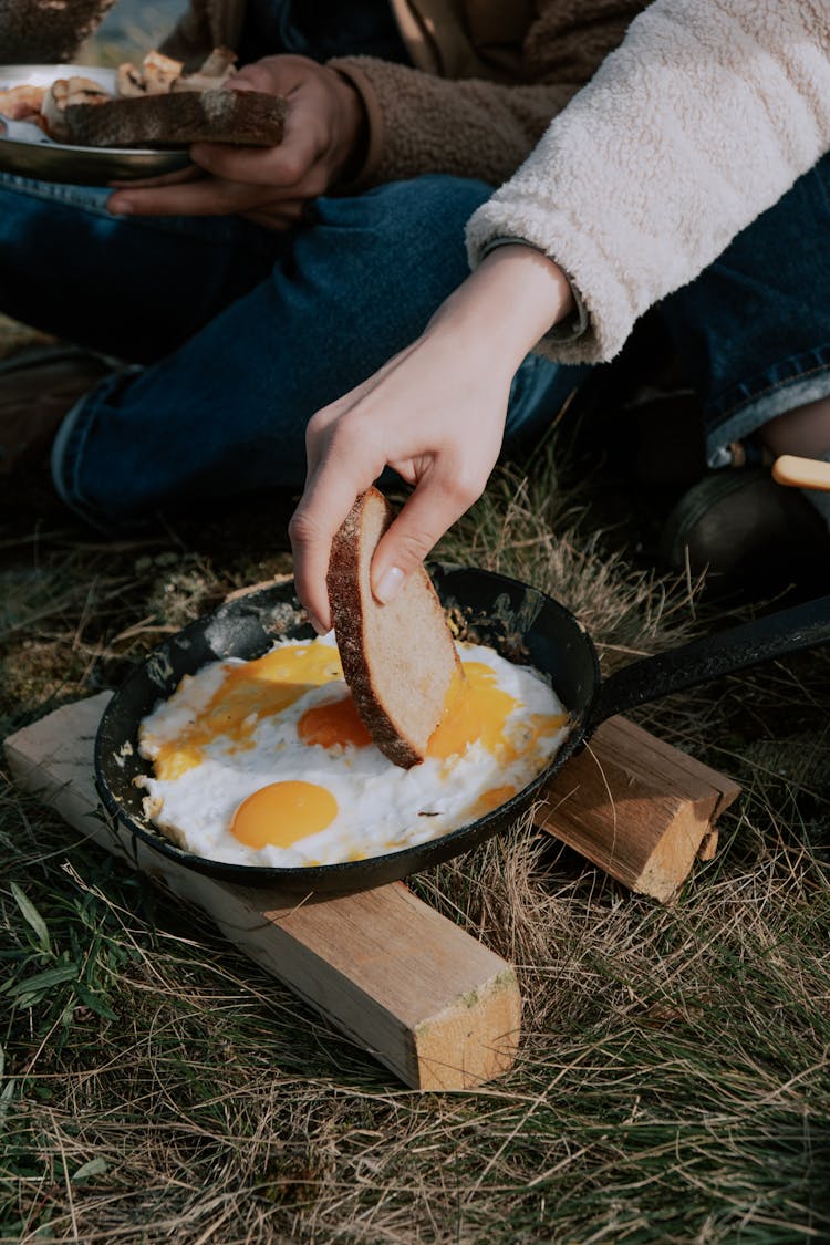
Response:
[{"label": "fried eggs with runny yolks inside the black skillet", "polygon": [[269,868],[383,855],[475,820],[544,768],[567,715],[529,666],[458,650],[464,679],[411,769],[372,743],[333,634],[185,675],[141,723],[147,815],[197,855]]}]

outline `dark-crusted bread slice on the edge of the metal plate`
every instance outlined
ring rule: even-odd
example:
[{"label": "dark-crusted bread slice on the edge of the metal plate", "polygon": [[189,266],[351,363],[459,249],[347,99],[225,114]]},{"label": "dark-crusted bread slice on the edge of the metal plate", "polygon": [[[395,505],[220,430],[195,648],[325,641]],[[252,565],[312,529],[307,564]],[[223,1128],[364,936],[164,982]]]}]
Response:
[{"label": "dark-crusted bread slice on the edge of the metal plate", "polygon": [[102,103],[70,103],[56,138],[78,147],[187,147],[282,142],[289,106],[261,91],[177,91]]}]

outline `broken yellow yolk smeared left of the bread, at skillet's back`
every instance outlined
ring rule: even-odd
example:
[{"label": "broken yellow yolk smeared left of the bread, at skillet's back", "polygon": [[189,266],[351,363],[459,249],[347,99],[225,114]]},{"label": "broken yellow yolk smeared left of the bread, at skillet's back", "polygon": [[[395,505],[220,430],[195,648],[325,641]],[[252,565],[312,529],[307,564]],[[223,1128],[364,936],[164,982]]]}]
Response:
[{"label": "broken yellow yolk smeared left of the bread, at skillet's back", "polygon": [[342,677],[337,650],[314,641],[280,646],[255,661],[228,666],[210,701],[159,748],[157,776],[178,778],[200,764],[204,748],[217,736],[249,748],[261,718],[280,713],[312,687]]}]

